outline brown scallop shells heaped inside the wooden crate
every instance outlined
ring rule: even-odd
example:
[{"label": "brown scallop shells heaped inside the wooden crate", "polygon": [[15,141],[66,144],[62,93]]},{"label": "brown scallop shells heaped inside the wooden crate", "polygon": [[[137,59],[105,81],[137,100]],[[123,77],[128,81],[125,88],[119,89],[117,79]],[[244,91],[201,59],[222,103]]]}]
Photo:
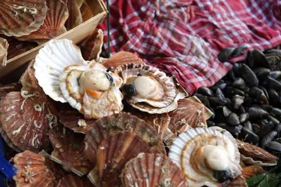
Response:
[{"label": "brown scallop shells heaped inside the wooden crate", "polygon": [[86,21],[87,11],[84,0],[1,0],[0,66]]}]

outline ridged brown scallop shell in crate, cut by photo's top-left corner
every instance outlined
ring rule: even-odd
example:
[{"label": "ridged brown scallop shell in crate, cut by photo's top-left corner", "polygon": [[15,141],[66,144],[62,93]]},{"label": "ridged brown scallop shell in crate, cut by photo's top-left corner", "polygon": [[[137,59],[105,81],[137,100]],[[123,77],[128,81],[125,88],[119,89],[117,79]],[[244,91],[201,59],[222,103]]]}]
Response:
[{"label": "ridged brown scallop shell in crate, cut by photo's top-left corner", "polygon": [[0,33],[20,37],[39,29],[46,17],[45,0],[1,0]]}]

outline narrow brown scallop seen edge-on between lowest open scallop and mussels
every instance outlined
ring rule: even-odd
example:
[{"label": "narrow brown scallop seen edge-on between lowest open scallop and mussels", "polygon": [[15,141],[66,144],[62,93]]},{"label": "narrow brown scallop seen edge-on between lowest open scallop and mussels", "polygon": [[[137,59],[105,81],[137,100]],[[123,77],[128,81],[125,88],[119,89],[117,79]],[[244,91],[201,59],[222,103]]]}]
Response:
[{"label": "narrow brown scallop seen edge-on between lowest open scallop and mussels", "polygon": [[260,161],[278,160],[277,156],[270,154],[263,148],[260,148],[256,145],[251,145],[247,142],[242,142],[240,140],[236,140],[236,143],[238,145],[240,154],[245,157],[250,157],[253,160],[260,160]]}]

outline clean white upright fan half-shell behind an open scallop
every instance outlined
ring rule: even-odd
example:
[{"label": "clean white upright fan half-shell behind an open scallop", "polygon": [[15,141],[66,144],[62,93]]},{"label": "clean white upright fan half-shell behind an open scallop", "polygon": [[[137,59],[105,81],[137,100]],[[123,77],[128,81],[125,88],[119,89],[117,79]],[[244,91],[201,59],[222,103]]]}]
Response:
[{"label": "clean white upright fan half-shell behind an open scallop", "polygon": [[88,65],[80,49],[70,40],[50,40],[39,50],[34,64],[35,77],[45,94],[55,101],[66,103],[60,88],[59,76],[71,64]]}]

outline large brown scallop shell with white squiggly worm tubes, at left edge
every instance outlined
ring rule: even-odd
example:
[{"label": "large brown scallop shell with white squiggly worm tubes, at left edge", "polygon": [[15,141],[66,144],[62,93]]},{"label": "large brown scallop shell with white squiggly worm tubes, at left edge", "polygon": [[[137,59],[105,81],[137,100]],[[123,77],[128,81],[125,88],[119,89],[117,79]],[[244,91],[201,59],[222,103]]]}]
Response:
[{"label": "large brown scallop shell with white squiggly worm tubes, at left edge", "polygon": [[10,92],[2,100],[0,113],[1,128],[13,145],[22,151],[50,150],[48,131],[58,124],[58,111],[43,92]]}]

